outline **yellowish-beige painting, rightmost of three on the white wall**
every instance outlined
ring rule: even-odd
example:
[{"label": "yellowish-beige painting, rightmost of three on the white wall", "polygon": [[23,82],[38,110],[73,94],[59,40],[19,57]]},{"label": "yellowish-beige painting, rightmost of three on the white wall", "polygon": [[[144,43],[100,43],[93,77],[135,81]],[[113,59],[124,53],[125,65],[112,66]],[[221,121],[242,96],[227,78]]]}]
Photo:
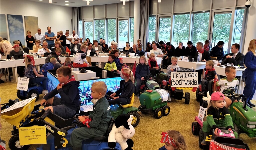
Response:
[{"label": "yellowish-beige painting, rightmost of three on the white wall", "polygon": [[27,36],[27,31],[30,30],[31,35],[35,36],[38,29],[38,18],[32,17],[32,16],[24,16],[24,17],[25,17],[25,28],[26,28],[25,35]]}]

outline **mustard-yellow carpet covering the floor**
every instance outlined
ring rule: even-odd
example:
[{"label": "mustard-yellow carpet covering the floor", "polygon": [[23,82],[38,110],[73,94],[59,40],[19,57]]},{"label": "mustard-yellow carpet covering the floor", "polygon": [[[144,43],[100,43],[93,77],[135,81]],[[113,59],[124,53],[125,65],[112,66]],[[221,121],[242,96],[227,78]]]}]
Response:
[{"label": "mustard-yellow carpet covering the floor", "polygon": [[[1,103],[8,102],[9,99],[15,99],[16,96],[16,86],[17,83],[14,82],[5,82],[0,84],[0,95]],[[163,116],[160,119],[155,119],[153,114],[142,114],[140,123],[135,128],[136,133],[132,140],[134,141],[134,150],[148,150],[162,147],[164,144],[160,143],[161,133],[166,130],[177,130],[181,132],[188,145],[189,150],[200,149],[198,147],[198,136],[191,133],[191,123],[194,121],[195,116],[198,115],[199,102],[195,100],[195,93],[190,92],[190,104],[185,104],[183,100],[173,100],[168,104],[170,107],[170,114],[168,116]],[[42,95],[39,97],[39,101],[36,104],[40,103]],[[252,103],[256,104],[255,100],[252,100]],[[135,97],[134,106],[138,107],[140,105],[139,99]],[[254,110],[256,110],[254,108]],[[2,120],[3,130],[0,131],[1,139],[6,141],[6,148],[8,148],[8,141],[10,139],[12,125],[10,125],[5,120]],[[256,149],[255,138],[250,138],[246,134],[241,134],[239,136],[245,143],[247,143],[250,149]],[[30,150],[36,149],[39,144],[30,146]]]}]

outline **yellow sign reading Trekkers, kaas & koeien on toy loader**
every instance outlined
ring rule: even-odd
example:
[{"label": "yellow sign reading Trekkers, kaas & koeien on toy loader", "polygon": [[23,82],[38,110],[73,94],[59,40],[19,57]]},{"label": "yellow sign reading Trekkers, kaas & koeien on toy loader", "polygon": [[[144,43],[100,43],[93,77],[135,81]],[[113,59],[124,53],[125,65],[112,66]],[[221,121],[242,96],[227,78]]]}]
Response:
[{"label": "yellow sign reading Trekkers, kaas & koeien on toy loader", "polygon": [[46,128],[43,126],[19,128],[20,145],[46,144]]}]

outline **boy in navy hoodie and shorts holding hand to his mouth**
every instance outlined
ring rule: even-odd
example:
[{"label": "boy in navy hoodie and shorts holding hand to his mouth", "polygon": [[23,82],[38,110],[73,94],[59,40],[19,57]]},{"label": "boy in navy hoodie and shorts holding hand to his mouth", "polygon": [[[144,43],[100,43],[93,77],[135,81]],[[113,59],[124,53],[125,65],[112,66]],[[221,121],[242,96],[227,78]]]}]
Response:
[{"label": "boy in navy hoodie and shorts holding hand to his mouth", "polygon": [[[50,104],[51,106],[45,107],[45,110],[50,109],[62,118],[74,117],[80,107],[78,90],[80,82],[76,81],[73,75],[71,76],[71,69],[68,66],[60,67],[56,73],[60,84],[43,97],[41,105]],[[60,94],[60,98],[55,96],[57,94]]]}]

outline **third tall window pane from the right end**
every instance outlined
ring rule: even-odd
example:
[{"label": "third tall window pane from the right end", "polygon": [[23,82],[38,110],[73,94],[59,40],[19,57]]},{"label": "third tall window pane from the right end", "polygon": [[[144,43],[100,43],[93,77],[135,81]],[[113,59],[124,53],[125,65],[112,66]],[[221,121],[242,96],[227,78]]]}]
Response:
[{"label": "third tall window pane from the right end", "polygon": [[209,12],[194,14],[193,38],[192,38],[194,45],[197,42],[205,43],[205,40],[207,40],[209,15],[210,15]]}]

